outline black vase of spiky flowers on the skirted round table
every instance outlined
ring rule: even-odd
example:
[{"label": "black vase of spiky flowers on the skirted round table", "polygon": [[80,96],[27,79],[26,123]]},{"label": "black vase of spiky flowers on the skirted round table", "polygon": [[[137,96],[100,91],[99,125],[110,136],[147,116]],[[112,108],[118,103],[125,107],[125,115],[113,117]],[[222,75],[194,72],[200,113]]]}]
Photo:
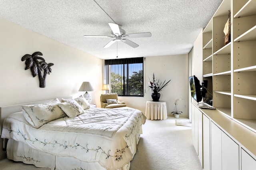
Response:
[{"label": "black vase of spiky flowers on the skirted round table", "polygon": [[[168,83],[170,82],[171,80],[169,80],[168,82],[166,82],[166,80],[164,80],[164,83],[160,83],[159,84],[159,80],[157,80],[157,78],[155,78],[155,75],[153,73],[153,80],[151,81],[149,79],[149,82],[148,82],[148,87],[150,88],[150,91],[153,92],[151,94],[151,97],[152,97],[152,100],[154,102],[158,102],[159,101],[159,98],[160,98],[160,91],[168,85]],[[165,83],[166,82],[166,83]]]}]

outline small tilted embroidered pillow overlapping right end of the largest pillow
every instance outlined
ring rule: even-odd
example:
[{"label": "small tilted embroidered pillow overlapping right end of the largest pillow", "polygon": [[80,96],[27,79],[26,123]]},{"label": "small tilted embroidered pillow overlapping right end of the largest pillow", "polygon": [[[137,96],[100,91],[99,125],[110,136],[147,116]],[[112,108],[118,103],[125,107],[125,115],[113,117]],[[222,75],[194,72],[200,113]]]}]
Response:
[{"label": "small tilted embroidered pillow overlapping right end of the largest pillow", "polygon": [[58,106],[68,115],[68,117],[76,117],[82,113],[84,113],[84,109],[76,102],[76,100],[72,99],[68,102],[63,102],[58,104]]}]

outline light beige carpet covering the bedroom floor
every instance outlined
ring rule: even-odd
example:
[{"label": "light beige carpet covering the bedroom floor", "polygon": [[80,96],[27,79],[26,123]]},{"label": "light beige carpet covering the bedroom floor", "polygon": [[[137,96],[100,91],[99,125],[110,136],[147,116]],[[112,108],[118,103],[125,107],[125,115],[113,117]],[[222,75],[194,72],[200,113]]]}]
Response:
[{"label": "light beige carpet covering the bedroom floor", "polygon": [[[176,119],[146,120],[130,170],[202,170],[191,141],[191,127],[177,126]],[[188,120],[188,119],[186,119]],[[0,160],[1,170],[49,170],[12,160]]]}]

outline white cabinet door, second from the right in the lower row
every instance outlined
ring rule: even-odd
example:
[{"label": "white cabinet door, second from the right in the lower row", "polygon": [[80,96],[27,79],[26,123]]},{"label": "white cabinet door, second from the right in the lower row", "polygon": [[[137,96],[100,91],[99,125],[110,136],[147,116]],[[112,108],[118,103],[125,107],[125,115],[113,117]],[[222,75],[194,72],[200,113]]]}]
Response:
[{"label": "white cabinet door, second from the right in the lower row", "polygon": [[222,170],[239,170],[239,146],[223,131],[221,135],[221,146]]}]

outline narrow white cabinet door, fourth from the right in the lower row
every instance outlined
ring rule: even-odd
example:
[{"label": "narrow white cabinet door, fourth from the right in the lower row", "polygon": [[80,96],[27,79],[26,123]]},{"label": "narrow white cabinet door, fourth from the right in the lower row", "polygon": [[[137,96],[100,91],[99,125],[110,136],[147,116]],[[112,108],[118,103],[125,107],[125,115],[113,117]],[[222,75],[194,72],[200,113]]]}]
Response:
[{"label": "narrow white cabinet door, fourth from the right in the lower row", "polygon": [[210,119],[203,114],[204,170],[210,170]]}]

